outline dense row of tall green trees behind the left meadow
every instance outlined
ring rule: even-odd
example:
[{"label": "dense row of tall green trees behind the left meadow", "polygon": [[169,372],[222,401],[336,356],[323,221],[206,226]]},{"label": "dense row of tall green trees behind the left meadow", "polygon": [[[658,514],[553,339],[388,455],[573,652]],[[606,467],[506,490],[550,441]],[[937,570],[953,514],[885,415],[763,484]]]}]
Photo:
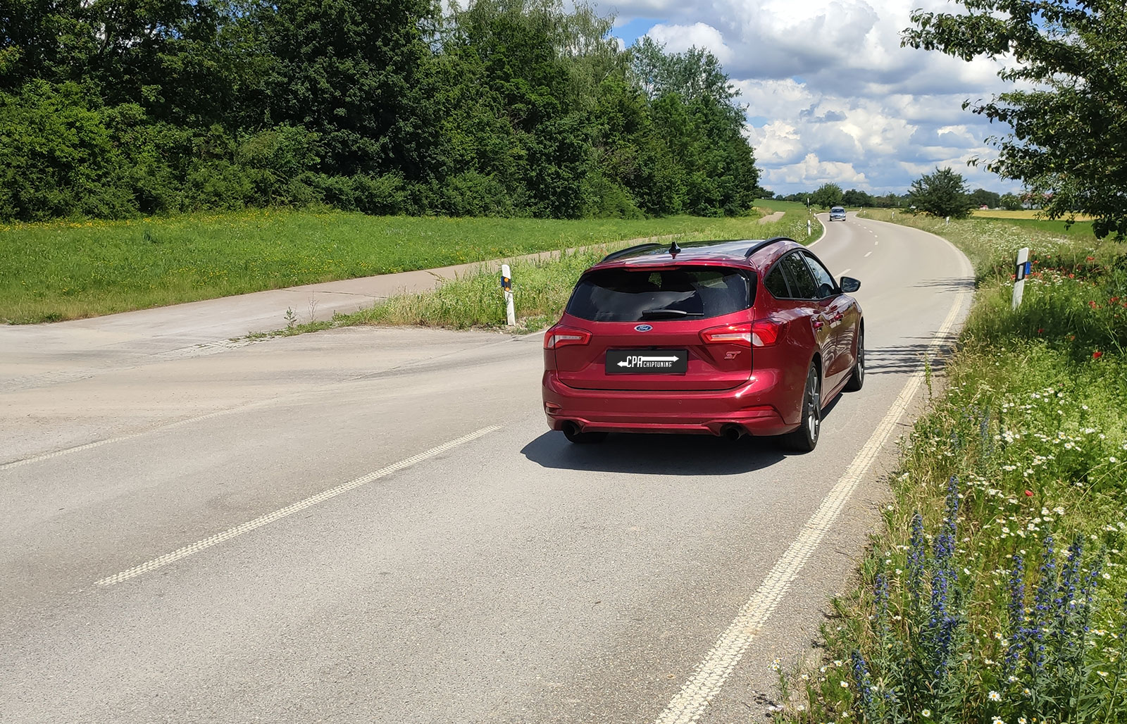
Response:
[{"label": "dense row of tall green trees behind the left meadow", "polygon": [[7,0],[0,219],[749,210],[720,63],[610,29],[558,0]]}]

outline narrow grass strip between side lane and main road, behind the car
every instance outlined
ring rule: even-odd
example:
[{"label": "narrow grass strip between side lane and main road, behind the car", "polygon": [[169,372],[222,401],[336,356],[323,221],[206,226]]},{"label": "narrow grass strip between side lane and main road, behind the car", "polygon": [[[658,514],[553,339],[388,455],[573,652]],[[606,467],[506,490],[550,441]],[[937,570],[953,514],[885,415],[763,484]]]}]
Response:
[{"label": "narrow grass strip between side lane and main road, behind the car", "polygon": [[[738,220],[718,220],[719,224],[699,232],[685,233],[681,240],[718,238],[770,238],[788,236],[801,241],[806,237],[806,209],[801,214],[788,213],[773,223]],[[734,233],[735,232],[735,233]],[[822,233],[815,222],[810,239]],[[586,249],[565,254],[559,258],[538,262],[518,262],[513,265],[513,297],[518,317],[515,332],[532,332],[559,319],[576,280],[607,251],[622,245]],[[504,327],[505,308],[498,286],[497,273],[485,270],[461,279],[445,282],[434,292],[402,294],[354,315],[338,318],[339,325],[423,325],[467,329],[470,327]]]}]

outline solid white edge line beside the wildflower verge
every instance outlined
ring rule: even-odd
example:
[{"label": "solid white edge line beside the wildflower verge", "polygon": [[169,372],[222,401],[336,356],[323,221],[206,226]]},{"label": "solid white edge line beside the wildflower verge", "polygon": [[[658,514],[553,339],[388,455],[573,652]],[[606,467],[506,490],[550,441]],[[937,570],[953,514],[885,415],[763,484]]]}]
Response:
[{"label": "solid white edge line beside the wildflower verge", "polygon": [[[928,353],[932,354],[939,350],[947,341],[947,336],[955,327],[962,309],[965,294],[959,294],[947,318],[935,332]],[[857,457],[845,469],[845,474],[831,488],[829,493],[822,501],[822,505],[802,526],[798,537],[787,549],[787,553],[775,563],[774,567],[766,575],[763,583],[755,591],[752,598],[739,609],[736,619],[720,635],[716,645],[706,654],[704,660],[698,664],[690,680],[681,687],[665,710],[655,719],[655,724],[692,724],[704,713],[712,698],[720,691],[724,682],[731,674],[733,670],[743,659],[744,653],[752,644],[752,639],[760,633],[767,618],[774,612],[775,607],[787,593],[790,584],[806,565],[810,554],[818,547],[831,526],[841,513],[845,501],[849,500],[853,491],[861,483],[869,466],[876,460],[880,449],[891,436],[899,418],[907,410],[908,404],[924,380],[924,370],[916,370],[912,378],[905,383],[904,389],[896,397],[893,406],[885,415],[880,424],[873,431],[869,441],[858,452]]]}]

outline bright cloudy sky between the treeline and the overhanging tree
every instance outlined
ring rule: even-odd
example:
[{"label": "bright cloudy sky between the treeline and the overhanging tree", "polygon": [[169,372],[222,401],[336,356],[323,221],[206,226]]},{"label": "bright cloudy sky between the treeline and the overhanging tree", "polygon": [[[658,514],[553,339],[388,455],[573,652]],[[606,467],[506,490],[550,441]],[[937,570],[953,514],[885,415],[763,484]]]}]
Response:
[{"label": "bright cloudy sky between the treeline and the overhanging tree", "polygon": [[964,100],[1006,89],[993,61],[967,63],[900,47],[917,7],[952,11],[942,0],[616,0],[613,34],[630,45],[649,35],[667,51],[711,51],[747,106],[745,133],[762,184],[777,193],[824,183],[871,193],[907,191],[950,166],[971,188],[1020,185],[967,166],[993,158],[987,136],[1006,132]]}]

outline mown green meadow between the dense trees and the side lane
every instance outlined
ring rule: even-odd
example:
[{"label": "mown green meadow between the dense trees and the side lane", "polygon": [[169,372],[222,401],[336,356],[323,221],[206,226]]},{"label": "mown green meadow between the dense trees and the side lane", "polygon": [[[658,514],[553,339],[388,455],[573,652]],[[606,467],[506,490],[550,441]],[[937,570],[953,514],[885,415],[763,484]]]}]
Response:
[{"label": "mown green meadow between the dense trees and the side lane", "polygon": [[757,238],[755,221],[251,211],[0,226],[0,321],[73,319],[639,237]]}]

